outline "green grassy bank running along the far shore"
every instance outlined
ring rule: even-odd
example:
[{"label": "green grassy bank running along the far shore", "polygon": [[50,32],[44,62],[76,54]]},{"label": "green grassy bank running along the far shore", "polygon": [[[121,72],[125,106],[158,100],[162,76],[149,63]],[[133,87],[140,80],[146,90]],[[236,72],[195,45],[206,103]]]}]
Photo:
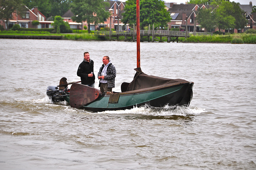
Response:
[{"label": "green grassy bank running along the far shore", "polygon": [[[16,35],[16,36],[62,36],[62,40],[81,40],[81,41],[108,41],[109,37],[100,37],[94,32],[91,34],[80,33],[80,34],[52,34],[47,31],[35,32],[35,31],[1,31],[0,35]],[[160,37],[156,37],[160,40]],[[113,38],[116,39],[117,38]],[[173,39],[173,38],[172,38]],[[125,37],[120,36],[119,41],[124,41]],[[148,41],[147,38],[141,39],[142,41]],[[132,41],[132,40],[128,40]],[[150,37],[150,42],[152,38]],[[157,41],[157,40],[155,40]],[[163,42],[167,42],[167,38],[163,39]],[[172,42],[172,40],[171,40]],[[176,42],[176,40],[174,41]],[[189,38],[178,38],[178,42],[189,42],[189,43],[251,43],[256,44],[256,34],[228,34],[228,35],[212,35],[212,36],[190,36]]]}]

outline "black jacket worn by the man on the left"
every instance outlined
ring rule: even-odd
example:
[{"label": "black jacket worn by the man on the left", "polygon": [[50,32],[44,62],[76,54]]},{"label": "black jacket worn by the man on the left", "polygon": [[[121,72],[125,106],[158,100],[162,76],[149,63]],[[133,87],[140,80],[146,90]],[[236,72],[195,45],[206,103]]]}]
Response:
[{"label": "black jacket worn by the man on the left", "polygon": [[88,85],[91,83],[95,83],[95,75],[93,74],[93,77],[88,77],[88,74],[90,74],[93,71],[93,65],[94,62],[90,59],[90,63],[88,61],[83,61],[80,63],[77,75],[81,77],[81,84]]}]

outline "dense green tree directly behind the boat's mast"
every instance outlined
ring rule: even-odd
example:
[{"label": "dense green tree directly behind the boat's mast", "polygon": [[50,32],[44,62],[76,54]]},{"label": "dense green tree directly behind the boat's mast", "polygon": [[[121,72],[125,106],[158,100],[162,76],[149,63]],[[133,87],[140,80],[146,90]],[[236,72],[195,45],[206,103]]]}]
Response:
[{"label": "dense green tree directly behind the boat's mast", "polygon": [[[136,0],[127,0],[122,14],[124,24],[136,24]],[[165,9],[162,0],[140,0],[140,28],[143,30],[149,24],[155,27],[165,27],[171,17]]]}]

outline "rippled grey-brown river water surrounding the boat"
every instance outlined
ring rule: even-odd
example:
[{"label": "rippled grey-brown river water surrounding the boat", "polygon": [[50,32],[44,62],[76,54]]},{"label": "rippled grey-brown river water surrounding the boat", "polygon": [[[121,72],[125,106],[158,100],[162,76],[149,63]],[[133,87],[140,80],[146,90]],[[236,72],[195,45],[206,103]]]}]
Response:
[{"label": "rippled grey-brown river water surrounding the boat", "polygon": [[47,86],[80,81],[84,51],[96,74],[110,57],[121,91],[135,74],[136,42],[0,39],[1,169],[256,169],[256,45],[140,46],[144,73],[194,82],[189,107],[53,104]]}]

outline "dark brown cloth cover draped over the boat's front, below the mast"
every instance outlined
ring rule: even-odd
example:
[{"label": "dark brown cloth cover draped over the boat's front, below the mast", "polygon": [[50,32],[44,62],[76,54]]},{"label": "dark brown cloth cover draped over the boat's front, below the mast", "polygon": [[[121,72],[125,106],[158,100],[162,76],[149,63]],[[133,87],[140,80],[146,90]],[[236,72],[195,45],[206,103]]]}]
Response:
[{"label": "dark brown cloth cover draped over the boat's front, below the mast", "polygon": [[153,75],[147,75],[141,71],[140,68],[135,69],[137,73],[134,76],[133,81],[128,85],[126,91],[145,89],[149,87],[156,87],[168,84],[180,84],[188,81],[183,79],[166,79],[162,77],[156,77]]}]

